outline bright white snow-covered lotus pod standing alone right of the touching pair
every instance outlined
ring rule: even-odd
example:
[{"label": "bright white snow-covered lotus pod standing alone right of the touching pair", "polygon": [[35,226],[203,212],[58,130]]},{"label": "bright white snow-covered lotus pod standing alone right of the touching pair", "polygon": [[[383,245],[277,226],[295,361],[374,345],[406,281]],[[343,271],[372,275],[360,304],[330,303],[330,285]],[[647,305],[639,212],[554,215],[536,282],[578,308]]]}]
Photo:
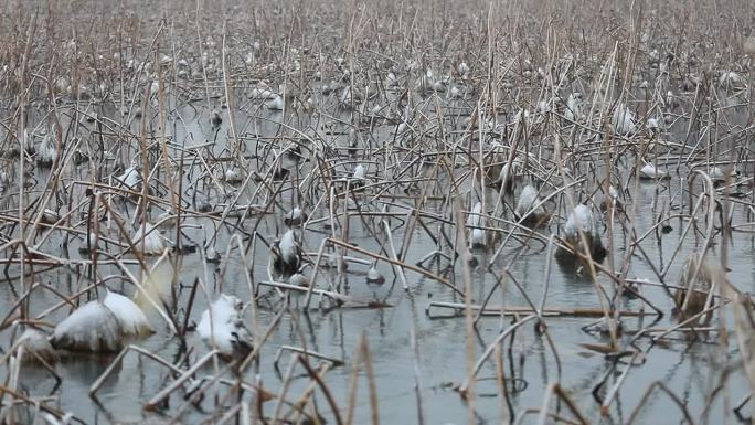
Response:
[{"label": "bright white snow-covered lotus pod standing alone right of the touching pair", "polygon": [[227,357],[244,357],[252,350],[248,332],[242,323],[242,302],[225,294],[202,312],[196,333],[209,347]]}]

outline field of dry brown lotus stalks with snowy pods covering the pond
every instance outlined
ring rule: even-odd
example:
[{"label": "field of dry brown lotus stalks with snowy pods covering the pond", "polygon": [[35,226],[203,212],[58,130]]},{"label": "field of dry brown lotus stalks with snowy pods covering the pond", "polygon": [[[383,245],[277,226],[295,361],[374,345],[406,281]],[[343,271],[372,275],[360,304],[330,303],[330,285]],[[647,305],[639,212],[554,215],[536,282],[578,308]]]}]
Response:
[{"label": "field of dry brown lotus stalks with snowy pods covering the pond", "polygon": [[[447,295],[427,315],[465,323],[448,343],[466,350],[451,386],[470,424],[482,370],[502,423],[632,423],[658,393],[677,422],[717,423],[720,400],[721,417],[747,416],[727,385],[755,389],[752,279],[726,270],[755,230],[753,60],[747,0],[3,1],[0,423],[88,422],[23,384],[81,351],[109,364],[95,404],[126,357],[155,363],[142,407],[167,423],[199,405],[187,423],[380,423],[370,329],[341,359],[296,319],[393,308],[352,294],[354,276]],[[524,256],[542,257],[542,297],[512,272]],[[594,298],[553,305],[551,258]],[[475,270],[496,284],[477,290]],[[488,316],[501,329],[479,349]],[[554,317],[599,319],[593,400],[557,379]],[[627,329],[637,317],[672,319]],[[299,346],[272,347],[281,318]],[[525,328],[559,370],[538,407],[504,372]],[[155,338],[178,354],[142,347]],[[704,405],[662,380],[623,386],[679,339],[717,347]],[[422,360],[406,362],[405,423],[424,423]],[[623,413],[621,392],[640,394]]]}]

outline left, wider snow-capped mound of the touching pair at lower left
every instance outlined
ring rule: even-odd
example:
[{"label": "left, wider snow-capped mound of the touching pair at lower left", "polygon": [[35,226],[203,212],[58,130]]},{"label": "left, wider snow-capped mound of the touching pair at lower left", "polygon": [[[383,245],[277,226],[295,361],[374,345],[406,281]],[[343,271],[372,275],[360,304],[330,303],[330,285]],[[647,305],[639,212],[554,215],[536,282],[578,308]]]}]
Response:
[{"label": "left, wider snow-capped mound of the touching pair at lower left", "polygon": [[59,350],[114,352],[124,333],[116,316],[100,301],[89,301],[55,327],[51,343]]}]

